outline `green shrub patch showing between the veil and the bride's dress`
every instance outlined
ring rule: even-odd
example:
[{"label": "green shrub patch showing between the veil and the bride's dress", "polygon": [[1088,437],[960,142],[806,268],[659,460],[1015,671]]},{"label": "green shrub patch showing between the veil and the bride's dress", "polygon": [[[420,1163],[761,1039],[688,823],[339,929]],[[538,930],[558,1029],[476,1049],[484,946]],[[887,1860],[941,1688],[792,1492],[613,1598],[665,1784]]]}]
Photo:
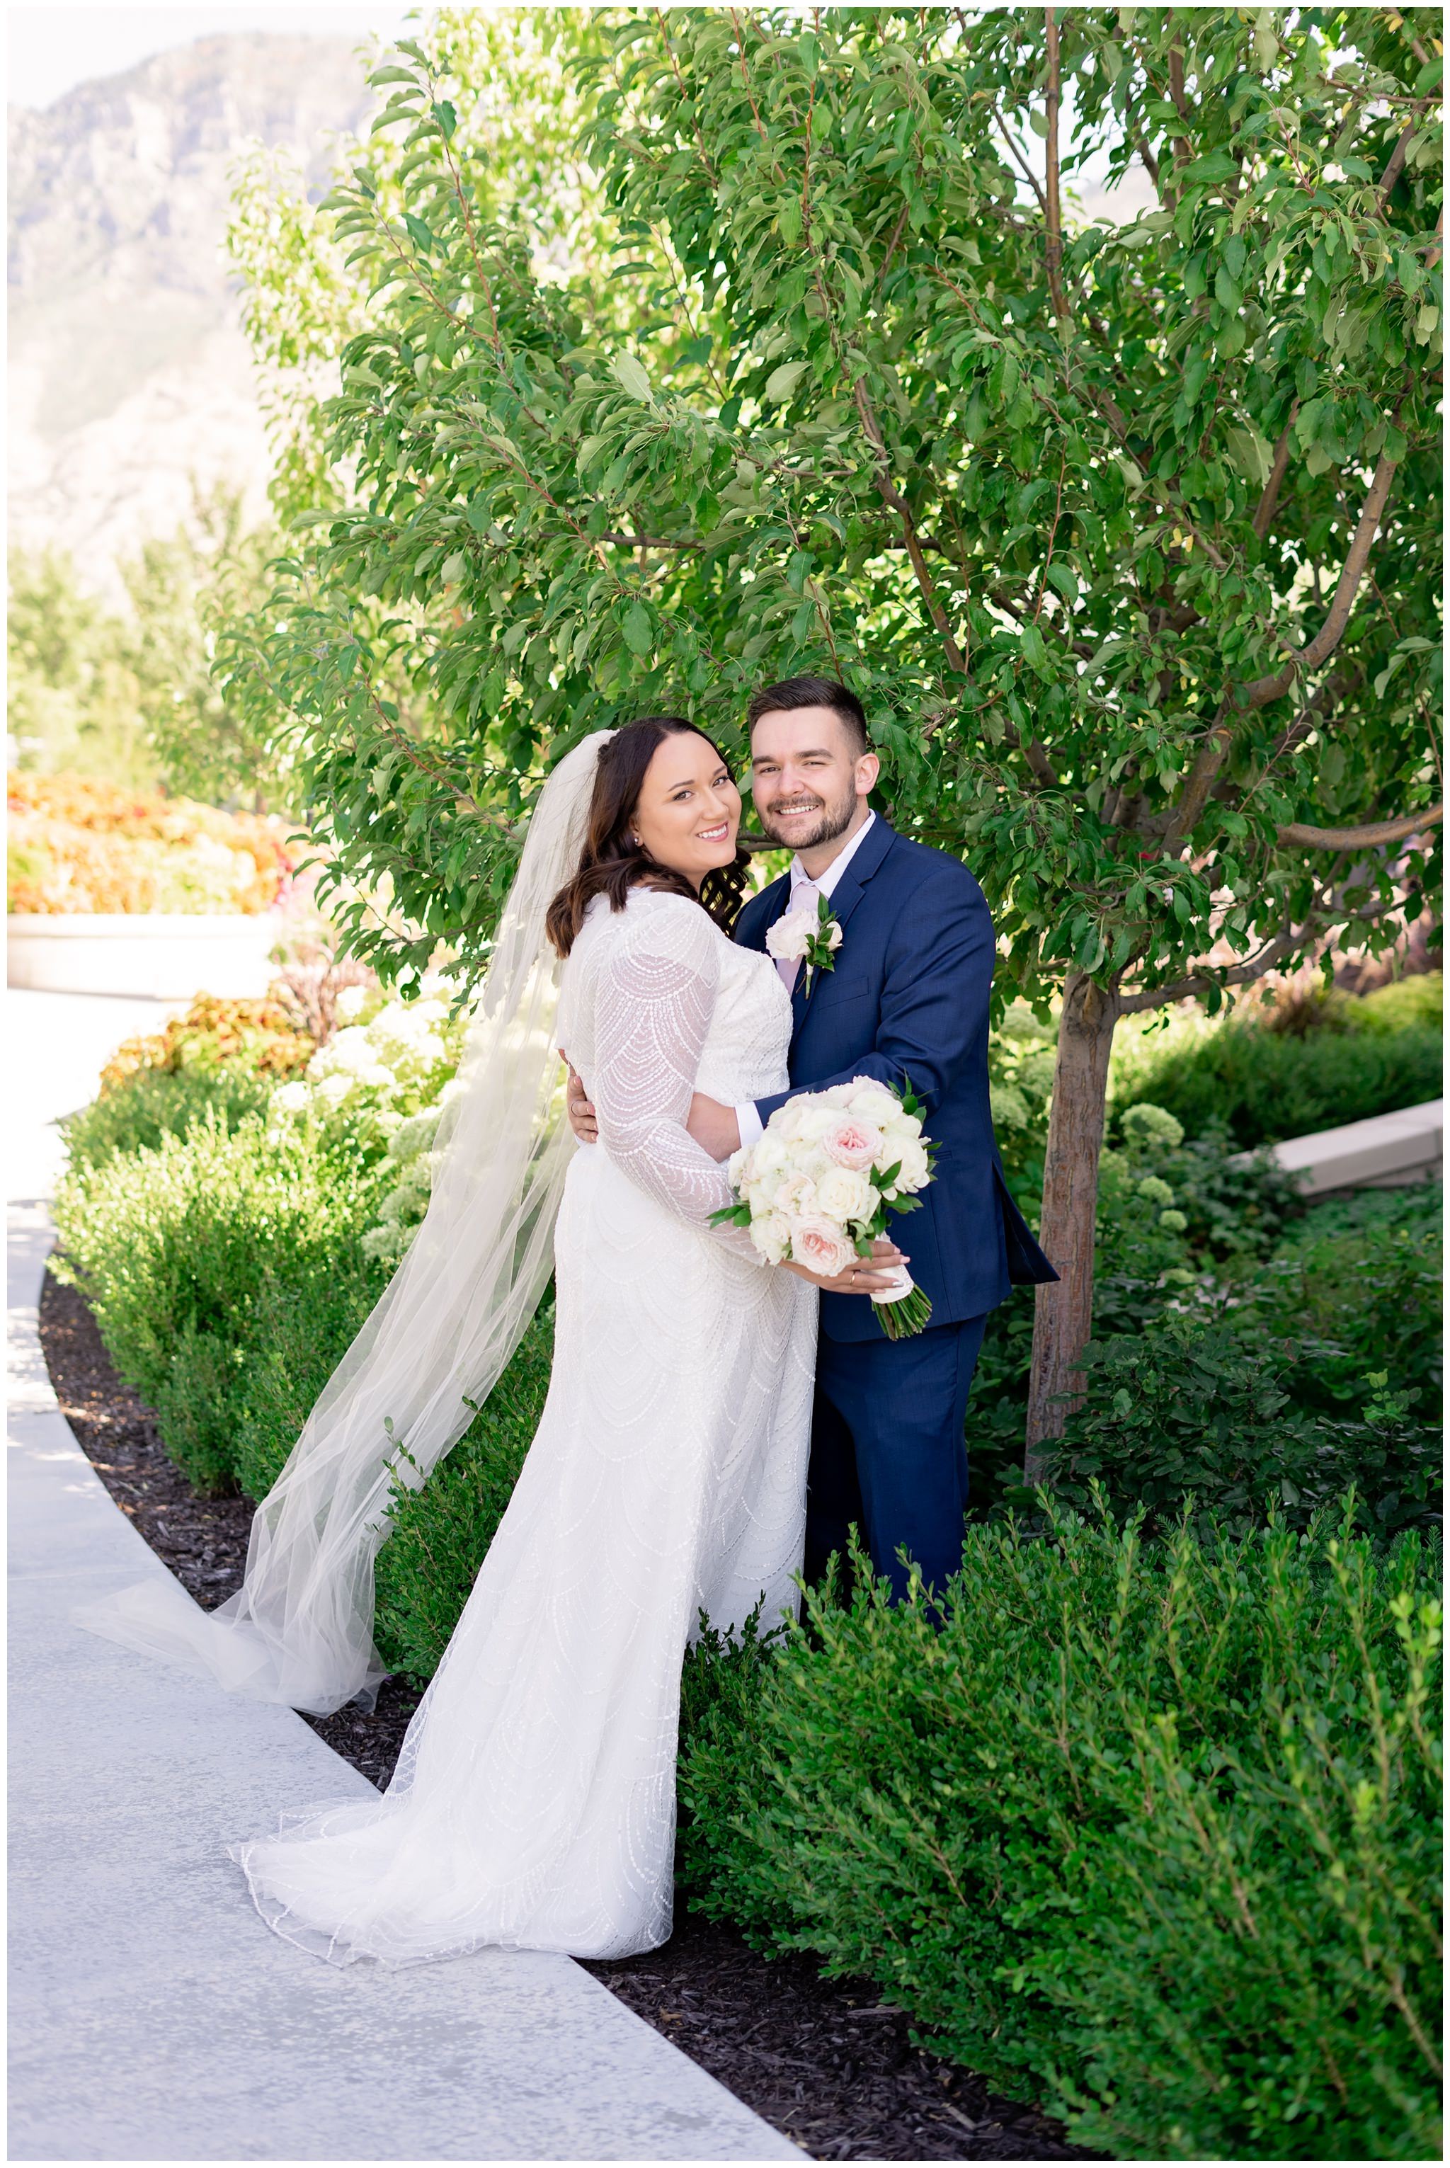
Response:
[{"label": "green shrub patch showing between the veil and the bride's dress", "polygon": [[392,1533],[377,1554],[375,1641],[384,1663],[425,1685],[453,1637],[479,1565],[533,1444],[553,1362],[553,1296],[472,1422],[418,1489],[392,1492]]}]

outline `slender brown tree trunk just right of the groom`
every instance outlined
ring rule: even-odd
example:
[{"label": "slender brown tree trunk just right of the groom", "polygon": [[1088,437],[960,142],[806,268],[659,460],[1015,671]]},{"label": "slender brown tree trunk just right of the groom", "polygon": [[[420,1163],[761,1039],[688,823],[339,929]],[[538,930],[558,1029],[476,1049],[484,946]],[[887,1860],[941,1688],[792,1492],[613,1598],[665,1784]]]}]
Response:
[{"label": "slender brown tree trunk just right of the groom", "polygon": [[1040,1234],[1062,1279],[1038,1288],[1036,1299],[1023,1468],[1027,1483],[1043,1474],[1038,1444],[1062,1435],[1069,1409],[1058,1394],[1082,1392],[1077,1359],[1092,1335],[1097,1158],[1103,1149],[1108,1056],[1116,1021],[1116,995],[1073,971],[1062,989]]}]

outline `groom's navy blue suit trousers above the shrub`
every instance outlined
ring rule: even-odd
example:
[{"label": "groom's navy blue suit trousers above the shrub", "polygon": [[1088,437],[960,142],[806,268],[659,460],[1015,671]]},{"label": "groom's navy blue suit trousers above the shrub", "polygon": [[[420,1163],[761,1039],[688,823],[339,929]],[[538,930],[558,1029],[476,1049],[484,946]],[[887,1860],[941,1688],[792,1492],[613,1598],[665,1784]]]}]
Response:
[{"label": "groom's navy blue suit trousers above the shrub", "polygon": [[852,1522],[871,1565],[906,1593],[906,1554],[945,1591],[962,1563],[967,1509],[967,1396],[986,1316],[930,1325],[912,1340],[817,1340],[806,1580]]}]

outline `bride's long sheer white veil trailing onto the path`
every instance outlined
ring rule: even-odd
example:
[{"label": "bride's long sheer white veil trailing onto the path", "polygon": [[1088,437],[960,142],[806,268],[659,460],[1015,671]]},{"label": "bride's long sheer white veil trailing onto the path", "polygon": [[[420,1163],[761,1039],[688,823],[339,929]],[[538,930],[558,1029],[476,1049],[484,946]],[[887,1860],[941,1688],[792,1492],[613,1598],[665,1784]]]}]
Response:
[{"label": "bride's long sheer white veil trailing onto the path", "polygon": [[[559,965],[544,913],[583,848],[596,731],[544,785],[440,1130],[412,1249],[327,1381],[260,1502],[247,1578],[217,1611],[152,1576],[74,1613],[228,1691],[327,1715],[388,1676],[373,1648],[373,1561],[394,1476],[418,1487],[518,1346],[553,1268],[574,1149],[559,1119]],[[399,1453],[405,1448],[407,1457]]]}]

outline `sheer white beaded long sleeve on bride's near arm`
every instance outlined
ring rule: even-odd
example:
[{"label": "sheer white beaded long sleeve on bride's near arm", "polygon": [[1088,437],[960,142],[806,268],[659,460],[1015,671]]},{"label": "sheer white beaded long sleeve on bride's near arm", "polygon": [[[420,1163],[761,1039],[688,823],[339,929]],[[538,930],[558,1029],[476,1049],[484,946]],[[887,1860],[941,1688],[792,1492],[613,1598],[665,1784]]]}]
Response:
[{"label": "sheer white beaded long sleeve on bride's near arm", "polygon": [[[724,1166],[685,1127],[715,1010],[720,941],[698,904],[652,898],[620,930],[594,1006],[598,1140],[631,1182],[698,1227],[733,1201]],[[743,1229],[713,1231],[759,1262]]]}]

